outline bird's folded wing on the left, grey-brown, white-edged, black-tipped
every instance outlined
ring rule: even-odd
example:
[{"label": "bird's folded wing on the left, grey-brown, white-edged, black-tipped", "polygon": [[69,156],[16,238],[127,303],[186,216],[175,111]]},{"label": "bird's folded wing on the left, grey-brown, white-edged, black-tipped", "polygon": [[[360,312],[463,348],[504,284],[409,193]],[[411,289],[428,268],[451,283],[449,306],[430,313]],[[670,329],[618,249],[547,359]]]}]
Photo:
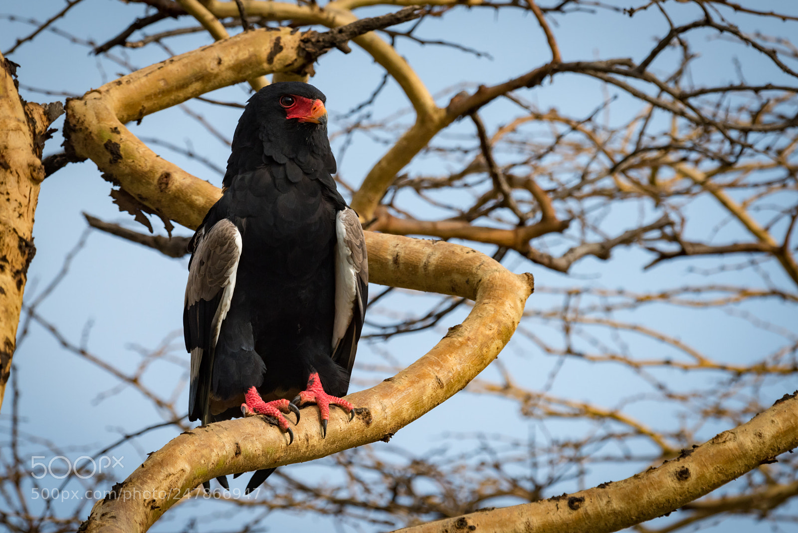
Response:
[{"label": "bird's folded wing on the left, grey-brown, white-edged, black-tipped", "polygon": [[230,310],[235,274],[241,256],[241,234],[230,220],[222,219],[199,231],[188,266],[183,310],[186,349],[192,353],[189,420],[209,416],[211,373],[222,321]]}]

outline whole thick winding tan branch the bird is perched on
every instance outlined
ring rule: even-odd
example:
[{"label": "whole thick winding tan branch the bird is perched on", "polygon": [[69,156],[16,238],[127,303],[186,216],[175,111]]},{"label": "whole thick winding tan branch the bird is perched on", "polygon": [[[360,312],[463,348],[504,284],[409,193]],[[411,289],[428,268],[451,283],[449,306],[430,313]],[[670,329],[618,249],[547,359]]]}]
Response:
[{"label": "whole thick winding tan branch the bird is perched on", "polygon": [[[69,101],[68,130],[75,151],[94,160],[142,203],[196,227],[219,198],[219,189],[160,159],[122,123],[265,73],[265,57],[274,56],[268,68],[295,69],[302,35],[289,32],[247,32]],[[277,38],[283,48],[272,54]],[[117,486],[115,499],[95,505],[87,531],[146,531],[203,480],[311,460],[388,438],[463,389],[516,330],[531,293],[531,275],[512,274],[488,256],[450,243],[371,232],[366,243],[372,282],[471,298],[476,303],[468,318],[396,377],[349,397],[361,408],[358,417],[347,424],[345,417],[334,416],[331,424],[341,430],[331,430],[326,440],[313,410],[306,410],[294,428],[296,440],[290,446],[277,428],[257,418],[211,424],[178,436]]]}]

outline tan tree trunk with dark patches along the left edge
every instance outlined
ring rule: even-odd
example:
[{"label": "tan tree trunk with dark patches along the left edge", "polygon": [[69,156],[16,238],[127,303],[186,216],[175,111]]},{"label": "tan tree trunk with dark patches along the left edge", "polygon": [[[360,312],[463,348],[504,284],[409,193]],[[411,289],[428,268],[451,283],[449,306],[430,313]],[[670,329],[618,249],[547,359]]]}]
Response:
[{"label": "tan tree trunk with dark patches along the left edge", "polygon": [[34,259],[34,213],[45,178],[41,148],[57,114],[26,103],[14,64],[0,54],[0,406],[11,373],[28,266]]}]

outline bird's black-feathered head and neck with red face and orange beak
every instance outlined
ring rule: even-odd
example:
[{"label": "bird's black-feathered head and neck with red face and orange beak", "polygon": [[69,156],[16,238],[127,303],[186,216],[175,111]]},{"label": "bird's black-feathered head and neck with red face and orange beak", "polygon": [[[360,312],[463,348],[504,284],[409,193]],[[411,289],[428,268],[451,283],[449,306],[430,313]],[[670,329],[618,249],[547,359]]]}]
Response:
[{"label": "bird's black-feathered head and neck with red face and orange beak", "polygon": [[301,81],[273,83],[255,93],[235,128],[225,183],[238,172],[288,160],[309,174],[333,174],[325,101],[324,93]]}]

